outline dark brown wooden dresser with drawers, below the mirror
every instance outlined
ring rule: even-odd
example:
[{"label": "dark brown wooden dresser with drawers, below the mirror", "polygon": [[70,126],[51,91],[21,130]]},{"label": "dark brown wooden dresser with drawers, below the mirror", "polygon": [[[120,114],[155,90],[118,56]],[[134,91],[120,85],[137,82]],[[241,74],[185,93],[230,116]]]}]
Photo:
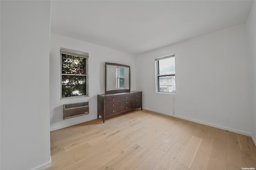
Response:
[{"label": "dark brown wooden dresser with drawers, below the mirror", "polygon": [[142,110],[142,91],[98,95],[98,118],[100,115],[103,123],[106,117],[138,108]]}]

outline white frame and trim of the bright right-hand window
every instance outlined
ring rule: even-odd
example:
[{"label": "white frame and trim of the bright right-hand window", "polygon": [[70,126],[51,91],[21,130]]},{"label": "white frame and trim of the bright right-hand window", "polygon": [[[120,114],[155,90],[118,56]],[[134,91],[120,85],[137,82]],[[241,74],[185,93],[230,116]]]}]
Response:
[{"label": "white frame and trim of the bright right-hand window", "polygon": [[[159,77],[165,77],[165,76],[175,76],[175,89],[176,89],[176,70],[175,70],[175,74],[165,74],[165,75],[159,75],[159,60],[162,60],[162,59],[168,59],[168,58],[172,58],[172,57],[175,57],[175,54],[171,54],[171,55],[164,55],[164,56],[161,56],[161,57],[156,57],[155,58],[155,73],[156,73],[156,93],[162,93],[162,94],[171,94],[171,95],[176,95],[177,94],[177,91],[175,90],[175,93],[173,92],[162,92],[162,91],[159,91]],[[174,63],[175,64],[175,63]],[[176,65],[175,65],[175,68],[176,68]]]}]

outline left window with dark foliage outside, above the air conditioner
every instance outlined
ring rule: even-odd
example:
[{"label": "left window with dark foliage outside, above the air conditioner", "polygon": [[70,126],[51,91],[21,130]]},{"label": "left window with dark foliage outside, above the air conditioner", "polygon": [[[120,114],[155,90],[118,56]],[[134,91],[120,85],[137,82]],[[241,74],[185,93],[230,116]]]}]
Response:
[{"label": "left window with dark foliage outside, above the air conditioner", "polygon": [[61,98],[88,96],[88,53],[60,48]]}]

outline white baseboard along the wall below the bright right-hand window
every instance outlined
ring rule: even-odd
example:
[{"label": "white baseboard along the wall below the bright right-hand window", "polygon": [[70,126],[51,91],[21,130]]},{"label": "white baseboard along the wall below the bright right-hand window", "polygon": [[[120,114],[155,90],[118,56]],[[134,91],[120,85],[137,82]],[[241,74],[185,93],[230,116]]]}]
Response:
[{"label": "white baseboard along the wall below the bright right-hand window", "polygon": [[[246,135],[246,136],[252,136],[252,133],[250,133],[250,132],[245,132],[245,131],[234,129],[234,128],[224,127],[224,126],[221,126],[221,125],[216,125],[216,124],[208,123],[208,122],[204,122],[204,121],[198,121],[196,119],[190,119],[188,117],[183,117],[183,116],[179,116],[179,115],[171,115],[170,113],[165,113],[165,112],[161,112],[161,111],[157,111],[157,110],[153,110],[153,109],[148,109],[148,108],[143,108],[143,109],[148,110],[148,111],[153,111],[153,112],[156,112],[156,113],[161,113],[161,114],[164,114],[164,115],[177,117],[177,118],[184,119],[184,120],[191,121],[191,122],[195,122],[195,123],[200,123],[202,125],[207,125],[207,126],[210,126],[210,127],[220,128],[222,130],[228,130],[230,132],[235,132],[235,133],[243,134],[243,135]],[[253,140],[254,140],[254,144],[255,144],[256,143],[255,139],[253,139]]]}]

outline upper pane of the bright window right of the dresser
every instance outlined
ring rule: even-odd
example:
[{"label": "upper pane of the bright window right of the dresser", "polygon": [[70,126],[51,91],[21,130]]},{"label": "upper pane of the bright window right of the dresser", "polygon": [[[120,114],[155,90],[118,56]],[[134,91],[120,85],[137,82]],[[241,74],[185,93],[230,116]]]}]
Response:
[{"label": "upper pane of the bright window right of the dresser", "polygon": [[175,57],[161,59],[159,63],[159,75],[175,74]]}]

